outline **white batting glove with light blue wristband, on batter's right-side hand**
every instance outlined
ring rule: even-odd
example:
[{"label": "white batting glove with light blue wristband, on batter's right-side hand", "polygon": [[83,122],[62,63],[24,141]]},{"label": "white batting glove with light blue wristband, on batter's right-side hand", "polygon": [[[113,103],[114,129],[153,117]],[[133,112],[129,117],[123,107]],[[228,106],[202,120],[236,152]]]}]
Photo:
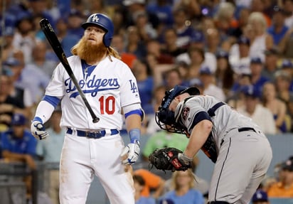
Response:
[{"label": "white batting glove with light blue wristband, on batter's right-side hand", "polygon": [[139,144],[139,137],[140,137],[140,130],[139,129],[131,129],[129,131],[130,143],[124,147],[122,154],[120,155],[124,158],[127,155],[127,159],[122,161],[123,164],[132,165],[139,159],[139,151],[140,151],[140,144]]}]

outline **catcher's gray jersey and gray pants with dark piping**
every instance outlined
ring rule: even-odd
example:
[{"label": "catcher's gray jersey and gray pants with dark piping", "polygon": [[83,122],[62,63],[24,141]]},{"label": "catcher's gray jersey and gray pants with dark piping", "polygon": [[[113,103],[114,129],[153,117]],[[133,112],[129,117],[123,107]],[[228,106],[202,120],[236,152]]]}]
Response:
[{"label": "catcher's gray jersey and gray pants with dark piping", "polygon": [[[198,112],[209,112],[219,101],[214,97],[197,95],[179,104],[175,117],[191,134]],[[272,149],[265,134],[248,117],[227,104],[210,110],[213,139],[218,153],[209,201],[250,203],[253,193],[267,172]],[[214,114],[214,115],[213,115]]]}]

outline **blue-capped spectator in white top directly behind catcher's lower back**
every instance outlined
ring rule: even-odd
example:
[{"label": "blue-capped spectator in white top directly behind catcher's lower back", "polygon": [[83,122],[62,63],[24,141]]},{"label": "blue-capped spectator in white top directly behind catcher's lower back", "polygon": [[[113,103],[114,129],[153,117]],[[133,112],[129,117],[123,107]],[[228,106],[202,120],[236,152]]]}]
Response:
[{"label": "blue-capped spectator in white top directly behind catcher's lower back", "polygon": [[253,86],[243,89],[245,105],[238,112],[250,117],[265,134],[276,134],[276,125],[272,112],[260,103],[261,92]]}]

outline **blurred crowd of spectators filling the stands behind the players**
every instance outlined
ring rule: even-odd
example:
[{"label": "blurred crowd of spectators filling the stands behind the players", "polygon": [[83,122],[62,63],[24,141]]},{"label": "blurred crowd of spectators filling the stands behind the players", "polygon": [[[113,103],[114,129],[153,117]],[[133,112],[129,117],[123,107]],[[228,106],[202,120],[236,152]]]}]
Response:
[{"label": "blurred crowd of spectators filling the stands behind the players", "polygon": [[[151,136],[142,151],[144,161],[155,148],[182,149],[186,145],[182,136],[162,131],[154,122],[154,112],[165,91],[175,85],[195,85],[204,95],[227,102],[251,117],[266,134],[293,132],[292,0],[4,0],[0,4],[2,158],[25,161],[32,169],[36,168],[36,159],[58,162],[60,151],[51,150],[55,144],[62,146],[60,112],[47,124],[53,135],[47,144],[37,143],[23,130],[60,63],[39,21],[48,18],[65,54],[70,56],[70,49],[83,35],[81,23],[93,13],[112,18],[111,47],[137,78],[146,113],[142,134]],[[18,142],[12,136],[14,131],[22,134]],[[285,190],[284,196],[293,198],[292,158],[280,163],[278,169],[275,180],[260,186],[262,191],[253,198],[282,196]],[[189,200],[203,204],[207,192],[196,188],[195,171],[157,178],[155,187],[159,190],[151,188],[151,193],[156,193],[154,200],[139,201],[142,196],[137,194],[137,203]],[[56,178],[56,172],[52,171],[52,176]],[[28,198],[29,179],[25,180]],[[58,186],[56,180],[52,180],[54,186]],[[141,192],[149,182],[134,172],[134,183]],[[53,188],[50,195],[58,200]]]}]

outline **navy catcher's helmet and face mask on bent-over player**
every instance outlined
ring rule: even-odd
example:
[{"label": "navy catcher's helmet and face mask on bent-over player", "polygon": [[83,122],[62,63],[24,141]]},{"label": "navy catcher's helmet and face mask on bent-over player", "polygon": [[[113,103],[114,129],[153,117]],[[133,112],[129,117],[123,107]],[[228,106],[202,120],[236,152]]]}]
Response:
[{"label": "navy catcher's helmet and face mask on bent-over player", "polygon": [[176,96],[185,92],[187,92],[189,95],[200,95],[200,91],[197,87],[184,87],[180,85],[176,85],[173,89],[165,92],[165,97],[161,102],[159,111],[156,112],[156,124],[158,124],[161,129],[185,134],[185,128],[176,122],[174,117],[175,113],[169,110],[171,101],[174,100]]}]

